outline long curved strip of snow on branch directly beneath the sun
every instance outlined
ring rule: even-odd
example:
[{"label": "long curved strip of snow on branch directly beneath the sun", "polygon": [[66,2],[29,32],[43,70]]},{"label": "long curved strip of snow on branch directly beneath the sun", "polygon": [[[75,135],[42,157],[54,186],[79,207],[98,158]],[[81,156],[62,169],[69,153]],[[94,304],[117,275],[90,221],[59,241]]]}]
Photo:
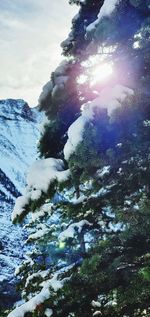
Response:
[{"label": "long curved strip of snow on branch directly beneath the sun", "polygon": [[64,147],[65,159],[69,160],[77,145],[83,140],[85,125],[94,119],[94,110],[96,108],[106,108],[111,116],[112,111],[121,107],[121,103],[125,98],[133,94],[132,89],[118,84],[114,87],[104,88],[96,99],[84,104],[81,116],[68,129],[68,140]]}]

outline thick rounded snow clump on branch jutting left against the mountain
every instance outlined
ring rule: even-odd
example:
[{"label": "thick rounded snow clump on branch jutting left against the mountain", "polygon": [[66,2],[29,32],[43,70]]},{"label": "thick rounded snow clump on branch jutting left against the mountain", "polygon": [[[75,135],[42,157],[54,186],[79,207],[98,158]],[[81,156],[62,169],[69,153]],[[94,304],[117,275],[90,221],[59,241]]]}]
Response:
[{"label": "thick rounded snow clump on branch jutting left against the mountain", "polygon": [[24,213],[30,201],[38,200],[42,193],[47,193],[51,183],[55,180],[62,183],[69,177],[70,171],[64,170],[64,163],[60,159],[47,158],[36,161],[29,169],[24,195],[16,200],[12,221]]}]

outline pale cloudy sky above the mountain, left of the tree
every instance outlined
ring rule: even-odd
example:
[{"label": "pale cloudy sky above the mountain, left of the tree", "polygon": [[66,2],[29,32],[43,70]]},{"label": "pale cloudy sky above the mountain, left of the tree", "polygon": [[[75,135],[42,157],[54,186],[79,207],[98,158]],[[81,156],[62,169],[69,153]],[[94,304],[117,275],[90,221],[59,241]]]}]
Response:
[{"label": "pale cloudy sky above the mountain, left of the tree", "polygon": [[0,99],[37,105],[76,12],[68,0],[0,0]]}]

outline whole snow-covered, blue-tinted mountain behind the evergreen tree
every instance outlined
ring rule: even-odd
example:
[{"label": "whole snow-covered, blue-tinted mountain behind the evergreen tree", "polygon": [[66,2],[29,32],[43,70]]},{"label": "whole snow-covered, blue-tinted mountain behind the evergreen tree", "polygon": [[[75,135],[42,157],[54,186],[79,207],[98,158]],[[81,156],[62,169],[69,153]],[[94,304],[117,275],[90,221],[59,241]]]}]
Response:
[{"label": "whole snow-covered, blue-tinted mountain behind the evergreen tree", "polygon": [[13,273],[22,259],[24,233],[10,216],[27,169],[37,158],[40,121],[37,109],[23,100],[0,101],[0,306],[16,299]]}]

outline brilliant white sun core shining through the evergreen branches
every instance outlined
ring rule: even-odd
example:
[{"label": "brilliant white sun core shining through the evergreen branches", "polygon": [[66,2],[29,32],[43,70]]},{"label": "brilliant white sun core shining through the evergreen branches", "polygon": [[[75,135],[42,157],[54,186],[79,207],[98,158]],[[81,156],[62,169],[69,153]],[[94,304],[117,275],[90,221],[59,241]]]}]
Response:
[{"label": "brilliant white sun core shining through the evergreen branches", "polygon": [[91,84],[95,85],[98,82],[103,82],[113,73],[112,63],[105,63],[95,66],[92,71]]}]

